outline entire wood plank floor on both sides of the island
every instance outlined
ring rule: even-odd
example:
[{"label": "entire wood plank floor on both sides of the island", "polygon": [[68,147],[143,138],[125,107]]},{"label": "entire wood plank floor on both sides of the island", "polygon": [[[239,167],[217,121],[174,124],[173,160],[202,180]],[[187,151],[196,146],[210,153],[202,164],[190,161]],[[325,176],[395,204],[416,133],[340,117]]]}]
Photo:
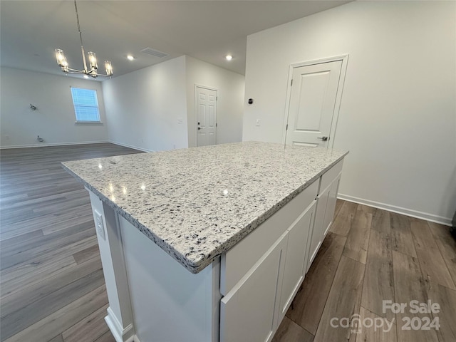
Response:
[{"label": "entire wood plank floor on both sides of the island", "polygon": [[[60,162],[137,152],[112,144],[1,150],[1,341],[115,341],[103,319],[108,299],[88,193]],[[273,341],[456,341],[455,285],[447,227],[338,200]],[[438,317],[440,329],[402,330],[407,314],[383,312],[388,299],[440,304],[439,313],[409,315]],[[391,328],[331,327],[331,318],[355,314]]]}]

